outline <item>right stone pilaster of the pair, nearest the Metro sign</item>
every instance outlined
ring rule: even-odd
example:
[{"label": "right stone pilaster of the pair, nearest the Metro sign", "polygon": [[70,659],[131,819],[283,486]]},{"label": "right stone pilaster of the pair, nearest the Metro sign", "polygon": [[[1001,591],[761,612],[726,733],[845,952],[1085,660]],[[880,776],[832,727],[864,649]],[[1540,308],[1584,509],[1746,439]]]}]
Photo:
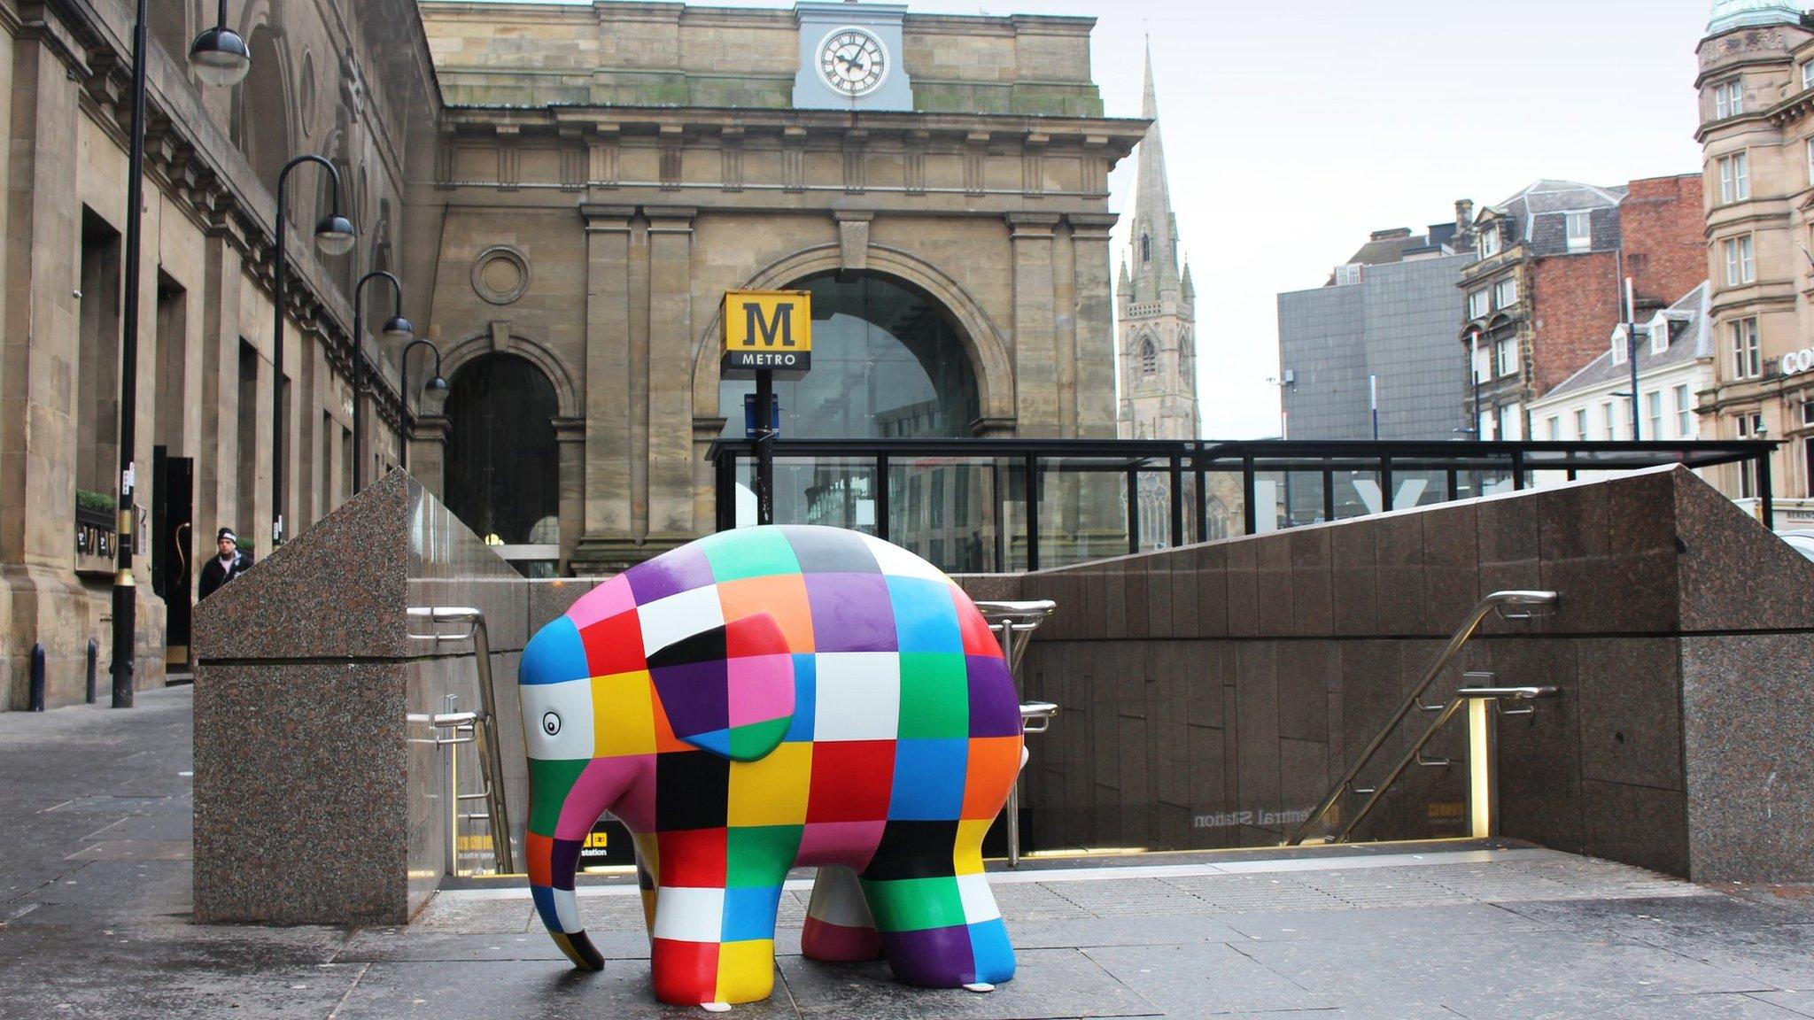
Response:
[{"label": "right stone pilaster of the pair, nearest the Metro sign", "polygon": [[649,218],[649,521],[648,554],[697,537],[693,521],[693,216]]}]

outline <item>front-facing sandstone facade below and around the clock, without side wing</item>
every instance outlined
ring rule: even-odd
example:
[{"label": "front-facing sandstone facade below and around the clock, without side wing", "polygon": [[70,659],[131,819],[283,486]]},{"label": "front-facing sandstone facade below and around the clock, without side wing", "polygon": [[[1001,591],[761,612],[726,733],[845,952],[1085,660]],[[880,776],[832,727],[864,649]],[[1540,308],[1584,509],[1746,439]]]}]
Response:
[{"label": "front-facing sandstone facade below and around the clock, without side wing", "polygon": [[[711,530],[731,289],[898,285],[961,341],[961,434],[1114,436],[1107,174],[1145,123],[1101,116],[1092,22],[838,4],[900,25],[912,109],[805,109],[807,7],[421,5],[450,107],[412,276],[455,390],[497,354],[550,379],[562,566]],[[530,267],[508,305],[470,285],[493,245]]]}]

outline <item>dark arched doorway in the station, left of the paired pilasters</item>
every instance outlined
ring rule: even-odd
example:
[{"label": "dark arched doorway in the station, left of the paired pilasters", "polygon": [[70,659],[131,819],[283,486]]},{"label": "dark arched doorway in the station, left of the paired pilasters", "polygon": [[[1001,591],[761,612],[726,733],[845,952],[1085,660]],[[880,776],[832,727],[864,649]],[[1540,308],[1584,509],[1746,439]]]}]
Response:
[{"label": "dark arched doorway in the station, left of the paired pilasters", "polygon": [[522,358],[490,354],[454,376],[446,503],[488,543],[561,541],[559,412],[548,376]]}]

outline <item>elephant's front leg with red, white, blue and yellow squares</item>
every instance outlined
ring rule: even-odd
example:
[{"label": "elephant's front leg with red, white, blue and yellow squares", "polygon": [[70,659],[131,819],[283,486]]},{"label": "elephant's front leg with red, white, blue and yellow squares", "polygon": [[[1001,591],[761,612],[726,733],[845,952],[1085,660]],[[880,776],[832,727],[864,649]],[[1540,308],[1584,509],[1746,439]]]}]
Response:
[{"label": "elephant's front leg with red, white, blue and yellow squares", "polygon": [[718,831],[717,857],[702,853],[709,837],[660,837],[649,955],[655,996],[668,1004],[756,1002],[775,991],[775,911],[800,829]]}]

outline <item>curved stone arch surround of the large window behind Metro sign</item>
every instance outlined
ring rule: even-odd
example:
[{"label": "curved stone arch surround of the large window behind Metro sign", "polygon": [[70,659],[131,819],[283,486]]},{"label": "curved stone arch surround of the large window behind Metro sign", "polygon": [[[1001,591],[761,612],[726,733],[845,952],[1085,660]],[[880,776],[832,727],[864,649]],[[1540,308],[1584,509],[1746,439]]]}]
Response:
[{"label": "curved stone arch surround of the large window behind Metro sign", "polygon": [[[1007,338],[989,318],[989,312],[956,280],[905,250],[871,245],[867,263],[867,274],[907,283],[941,305],[943,312],[958,327],[958,339],[963,343],[976,376],[978,416],[989,423],[1012,423],[1014,358],[1009,354]],[[742,289],[778,290],[800,280],[842,269],[844,250],[840,245],[814,245],[769,263],[751,276]],[[707,408],[718,408],[718,319],[720,310],[715,309],[704,334],[698,338],[693,363],[695,419],[715,417]],[[729,410],[742,414],[740,408]],[[718,414],[729,412],[727,408],[718,408]]]}]

